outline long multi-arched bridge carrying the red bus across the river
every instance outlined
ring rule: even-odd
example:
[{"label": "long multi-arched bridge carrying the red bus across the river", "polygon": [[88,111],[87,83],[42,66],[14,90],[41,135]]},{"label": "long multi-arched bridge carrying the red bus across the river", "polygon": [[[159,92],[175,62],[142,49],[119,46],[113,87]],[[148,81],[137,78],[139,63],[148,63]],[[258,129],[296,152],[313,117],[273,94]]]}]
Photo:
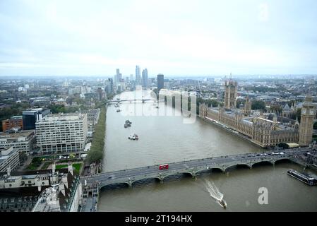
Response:
[{"label": "long multi-arched bridge carrying the red bus across the river", "polygon": [[266,152],[208,157],[198,160],[172,162],[169,163],[169,169],[160,170],[160,165],[152,165],[134,169],[122,169],[114,172],[103,172],[82,177],[81,179],[83,184],[86,180],[88,186],[97,182],[100,188],[109,184],[128,184],[128,186],[133,186],[133,183],[144,179],[158,179],[160,182],[163,182],[166,177],[177,174],[190,174],[192,177],[196,177],[200,172],[207,172],[212,169],[220,169],[222,172],[225,172],[229,167],[237,165],[246,165],[252,168],[258,162],[270,162],[274,165],[278,160],[294,161],[297,156],[303,155],[310,150],[309,148],[281,150],[284,153],[283,155],[273,155],[271,152]]}]

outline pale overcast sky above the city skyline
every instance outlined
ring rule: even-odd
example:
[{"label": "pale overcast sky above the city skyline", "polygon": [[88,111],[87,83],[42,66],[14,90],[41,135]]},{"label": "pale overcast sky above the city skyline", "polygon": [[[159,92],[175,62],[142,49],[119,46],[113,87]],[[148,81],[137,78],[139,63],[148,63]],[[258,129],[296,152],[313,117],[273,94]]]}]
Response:
[{"label": "pale overcast sky above the city skyline", "polygon": [[316,0],[0,0],[0,76],[317,74]]}]

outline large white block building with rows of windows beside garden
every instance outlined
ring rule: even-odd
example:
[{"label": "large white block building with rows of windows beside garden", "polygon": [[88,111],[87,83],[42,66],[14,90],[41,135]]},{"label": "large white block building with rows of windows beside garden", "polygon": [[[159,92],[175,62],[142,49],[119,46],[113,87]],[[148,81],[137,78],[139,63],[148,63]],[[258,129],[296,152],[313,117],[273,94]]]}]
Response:
[{"label": "large white block building with rows of windows beside garden", "polygon": [[37,146],[42,153],[71,152],[85,148],[87,114],[49,114],[35,126]]}]

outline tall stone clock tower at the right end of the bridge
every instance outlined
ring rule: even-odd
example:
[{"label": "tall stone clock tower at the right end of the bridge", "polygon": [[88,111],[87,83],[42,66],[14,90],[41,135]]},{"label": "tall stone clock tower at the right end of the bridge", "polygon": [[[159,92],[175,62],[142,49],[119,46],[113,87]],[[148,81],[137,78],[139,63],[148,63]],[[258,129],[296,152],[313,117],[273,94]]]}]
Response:
[{"label": "tall stone clock tower at the right end of the bridge", "polygon": [[301,124],[299,125],[299,145],[308,146],[313,137],[313,119],[315,119],[316,108],[312,98],[307,95],[301,107]]}]

